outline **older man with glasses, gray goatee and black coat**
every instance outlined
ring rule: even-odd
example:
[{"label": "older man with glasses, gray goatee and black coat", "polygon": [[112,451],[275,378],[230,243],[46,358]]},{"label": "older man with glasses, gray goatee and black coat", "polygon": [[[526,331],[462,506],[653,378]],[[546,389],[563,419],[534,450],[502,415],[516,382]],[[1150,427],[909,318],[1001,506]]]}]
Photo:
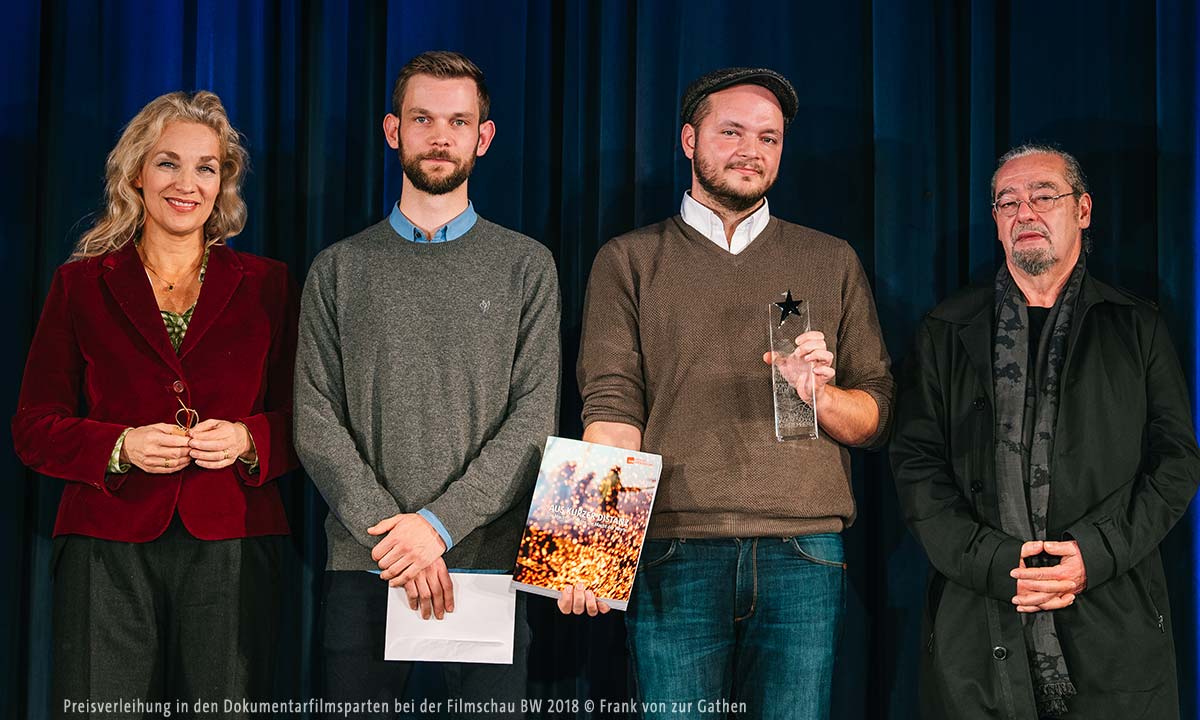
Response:
[{"label": "older man with glasses, gray goatee and black coat", "polygon": [[1200,480],[1158,311],[1085,266],[1079,163],[992,176],[1004,264],[925,318],[892,467],[929,553],[922,718],[1180,716],[1158,546]]}]

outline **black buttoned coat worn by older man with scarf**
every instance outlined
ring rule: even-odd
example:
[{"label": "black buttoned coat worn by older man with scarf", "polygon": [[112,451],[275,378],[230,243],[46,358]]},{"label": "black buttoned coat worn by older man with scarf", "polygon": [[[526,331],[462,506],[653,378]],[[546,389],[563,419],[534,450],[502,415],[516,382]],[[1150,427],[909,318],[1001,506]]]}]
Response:
[{"label": "black buttoned coat worn by older man with scarf", "polygon": [[[994,462],[992,288],[923,322],[898,397],[892,467],[932,564],[920,647],[922,718],[1036,720],[1020,547],[1001,529]],[[1070,718],[1178,718],[1158,545],[1200,480],[1188,389],[1153,306],[1091,276],[1060,385],[1048,539],[1075,540],[1087,587],[1055,623],[1079,695]]]}]

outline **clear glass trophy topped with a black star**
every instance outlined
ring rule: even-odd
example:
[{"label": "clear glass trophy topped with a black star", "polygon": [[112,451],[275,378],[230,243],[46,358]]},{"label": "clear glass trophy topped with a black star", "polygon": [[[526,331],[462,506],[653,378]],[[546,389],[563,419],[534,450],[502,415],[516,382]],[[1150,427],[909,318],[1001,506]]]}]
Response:
[{"label": "clear glass trophy topped with a black star", "polygon": [[[804,300],[792,300],[792,290],[781,293],[785,299],[767,305],[770,328],[770,352],[775,353],[770,366],[772,396],[775,401],[775,439],[812,440],[817,438],[817,409],[800,400],[800,394],[787,382],[780,365],[793,366],[796,362],[809,366],[799,358],[794,362],[786,359],[796,352],[796,338],[811,330],[809,304]],[[811,371],[811,366],[806,367]],[[788,372],[792,372],[791,368]],[[811,372],[800,372],[803,382],[809,384],[808,396],[812,397],[816,379]]]}]

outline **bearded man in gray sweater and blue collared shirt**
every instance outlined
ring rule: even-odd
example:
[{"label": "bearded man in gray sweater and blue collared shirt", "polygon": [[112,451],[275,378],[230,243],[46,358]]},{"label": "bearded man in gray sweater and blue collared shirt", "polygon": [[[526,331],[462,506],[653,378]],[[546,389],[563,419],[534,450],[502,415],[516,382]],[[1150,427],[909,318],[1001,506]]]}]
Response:
[{"label": "bearded man in gray sweater and blue collared shirt", "polygon": [[[383,659],[389,584],[440,619],[454,611],[450,568],[512,568],[554,432],[553,258],[479,217],[467,194],[496,133],[487,114],[469,59],[410,60],[383,124],[404,170],[400,202],[317,256],[305,283],[295,444],[330,509],[329,702],[403,696],[410,664]],[[528,646],[518,596],[512,665],[440,664],[450,697],[520,708]]]}]

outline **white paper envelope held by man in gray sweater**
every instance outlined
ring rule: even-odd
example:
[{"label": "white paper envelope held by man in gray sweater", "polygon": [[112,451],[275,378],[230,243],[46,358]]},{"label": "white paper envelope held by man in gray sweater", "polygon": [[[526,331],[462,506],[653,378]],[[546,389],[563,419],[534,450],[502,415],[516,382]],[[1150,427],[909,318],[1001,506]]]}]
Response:
[{"label": "white paper envelope held by man in gray sweater", "polygon": [[404,588],[388,588],[384,660],[512,664],[517,594],[511,575],[451,572],[454,612],[421,619]]}]

